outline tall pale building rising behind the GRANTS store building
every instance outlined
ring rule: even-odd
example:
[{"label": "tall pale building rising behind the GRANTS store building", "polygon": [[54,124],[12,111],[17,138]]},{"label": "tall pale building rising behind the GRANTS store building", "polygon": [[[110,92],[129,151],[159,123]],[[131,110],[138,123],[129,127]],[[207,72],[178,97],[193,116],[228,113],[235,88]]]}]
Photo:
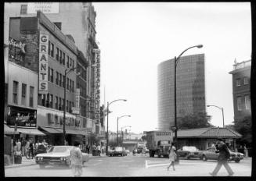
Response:
[{"label": "tall pale building rising behind the GRANTS store building", "polygon": [[[100,91],[99,87],[96,87],[100,85],[96,82],[100,81],[100,51],[96,44],[96,11],[92,2],[9,2],[5,4],[10,7],[9,13],[12,16],[31,17],[35,16],[37,10],[41,10],[63,34],[67,34],[67,37],[75,42],[85,58],[78,62],[86,62],[83,65],[79,63],[83,78],[80,79],[77,76],[77,83],[74,84],[76,88],[82,89],[80,90],[80,115],[77,119],[85,120],[88,133],[95,133],[97,130],[98,135],[103,136],[104,123],[99,122],[98,118],[100,97],[97,94]],[[79,54],[78,51],[78,57],[81,57]]]}]

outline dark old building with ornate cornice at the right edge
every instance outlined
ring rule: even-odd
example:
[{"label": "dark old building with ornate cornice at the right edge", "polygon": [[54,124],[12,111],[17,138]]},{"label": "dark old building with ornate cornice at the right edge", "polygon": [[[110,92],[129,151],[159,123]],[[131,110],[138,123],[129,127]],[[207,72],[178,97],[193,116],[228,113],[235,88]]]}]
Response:
[{"label": "dark old building with ornate cornice at the right edge", "polygon": [[233,71],[233,108],[235,123],[251,115],[251,60],[235,62]]}]

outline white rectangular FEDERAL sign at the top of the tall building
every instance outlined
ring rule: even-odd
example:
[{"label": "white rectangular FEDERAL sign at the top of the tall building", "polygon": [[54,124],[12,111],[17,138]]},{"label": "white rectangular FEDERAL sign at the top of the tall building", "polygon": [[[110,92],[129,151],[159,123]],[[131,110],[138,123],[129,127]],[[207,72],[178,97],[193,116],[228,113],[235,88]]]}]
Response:
[{"label": "white rectangular FEDERAL sign at the top of the tall building", "polygon": [[59,2],[30,2],[27,3],[27,13],[37,13],[41,11],[45,14],[59,13]]}]

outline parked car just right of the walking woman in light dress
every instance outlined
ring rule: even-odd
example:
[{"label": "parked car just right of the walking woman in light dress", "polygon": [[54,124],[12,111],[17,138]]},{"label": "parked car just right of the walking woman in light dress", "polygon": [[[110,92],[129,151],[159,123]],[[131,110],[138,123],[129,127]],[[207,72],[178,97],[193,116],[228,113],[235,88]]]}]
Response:
[{"label": "parked car just right of the walking woman in light dress", "polygon": [[178,149],[179,158],[199,158],[200,150],[194,146],[183,146],[181,149]]}]

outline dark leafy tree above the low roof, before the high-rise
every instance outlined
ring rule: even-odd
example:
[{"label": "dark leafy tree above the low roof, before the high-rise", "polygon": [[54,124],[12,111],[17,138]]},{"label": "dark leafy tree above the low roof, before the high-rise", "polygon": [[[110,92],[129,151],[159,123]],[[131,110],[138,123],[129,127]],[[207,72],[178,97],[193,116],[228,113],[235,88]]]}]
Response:
[{"label": "dark leafy tree above the low roof, before the high-rise", "polygon": [[210,119],[211,117],[206,112],[197,112],[178,118],[177,126],[182,130],[212,127]]}]

